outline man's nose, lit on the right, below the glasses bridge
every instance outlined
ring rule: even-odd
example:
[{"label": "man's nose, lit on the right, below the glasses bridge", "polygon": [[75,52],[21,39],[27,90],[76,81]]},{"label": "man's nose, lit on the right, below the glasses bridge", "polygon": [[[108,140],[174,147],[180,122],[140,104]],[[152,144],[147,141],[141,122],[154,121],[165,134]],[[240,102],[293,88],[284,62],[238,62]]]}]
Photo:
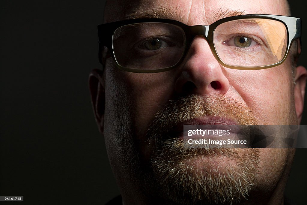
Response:
[{"label": "man's nose, lit on the right, below the glasses bridge", "polygon": [[224,68],[213,56],[204,36],[197,36],[190,46],[182,72],[175,83],[175,91],[180,96],[224,95],[229,89],[229,81]]}]

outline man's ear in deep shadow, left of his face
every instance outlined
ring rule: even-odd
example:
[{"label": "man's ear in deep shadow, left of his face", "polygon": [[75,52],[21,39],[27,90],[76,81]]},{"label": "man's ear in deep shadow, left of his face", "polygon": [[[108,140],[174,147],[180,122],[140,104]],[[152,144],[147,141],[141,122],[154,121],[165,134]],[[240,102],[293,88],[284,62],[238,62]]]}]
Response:
[{"label": "man's ear in deep shadow, left of his face", "polygon": [[103,134],[103,119],[105,106],[105,84],[103,71],[94,69],[88,78],[91,91],[92,107],[99,131]]}]

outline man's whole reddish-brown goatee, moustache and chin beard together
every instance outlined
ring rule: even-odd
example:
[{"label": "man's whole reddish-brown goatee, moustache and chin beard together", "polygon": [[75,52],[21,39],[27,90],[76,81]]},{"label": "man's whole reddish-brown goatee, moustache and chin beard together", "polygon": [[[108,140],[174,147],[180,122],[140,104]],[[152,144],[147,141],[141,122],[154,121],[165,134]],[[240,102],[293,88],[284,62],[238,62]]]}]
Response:
[{"label": "man's whole reddish-brown goatee, moustache and chin beard together", "polygon": [[151,164],[161,193],[173,203],[232,204],[246,199],[253,187],[258,149],[187,148],[169,136],[173,126],[207,115],[257,124],[246,105],[224,96],[181,97],[157,112],[147,132]]}]

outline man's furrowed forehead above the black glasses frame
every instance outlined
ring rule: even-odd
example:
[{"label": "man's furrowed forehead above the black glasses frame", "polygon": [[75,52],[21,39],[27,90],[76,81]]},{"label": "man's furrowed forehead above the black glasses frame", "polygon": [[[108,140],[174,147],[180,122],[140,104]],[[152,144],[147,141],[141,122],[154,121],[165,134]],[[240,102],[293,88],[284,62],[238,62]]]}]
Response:
[{"label": "man's furrowed forehead above the black glasses frame", "polygon": [[108,1],[105,21],[168,18],[188,25],[209,25],[241,14],[289,15],[286,0],[125,0]]}]

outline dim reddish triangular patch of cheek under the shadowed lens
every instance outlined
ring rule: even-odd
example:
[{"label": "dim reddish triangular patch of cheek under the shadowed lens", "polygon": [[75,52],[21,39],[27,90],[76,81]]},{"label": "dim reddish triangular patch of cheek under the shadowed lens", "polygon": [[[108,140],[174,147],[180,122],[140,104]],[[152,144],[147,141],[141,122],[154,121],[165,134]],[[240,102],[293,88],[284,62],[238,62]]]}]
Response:
[{"label": "dim reddish triangular patch of cheek under the shadowed lens", "polygon": [[169,72],[129,73],[124,79],[129,87],[135,134],[145,136],[154,115],[172,98],[174,79]]}]

